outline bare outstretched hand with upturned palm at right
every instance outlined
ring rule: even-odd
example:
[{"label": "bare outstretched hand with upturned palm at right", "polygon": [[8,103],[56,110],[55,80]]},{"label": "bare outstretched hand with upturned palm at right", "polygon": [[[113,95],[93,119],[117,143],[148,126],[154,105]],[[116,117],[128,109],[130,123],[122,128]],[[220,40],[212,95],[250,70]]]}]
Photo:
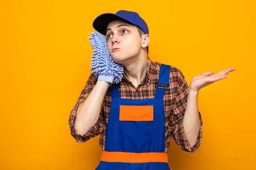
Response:
[{"label": "bare outstretched hand with upturned palm at right", "polygon": [[220,71],[218,74],[214,74],[213,71],[207,71],[203,74],[196,75],[192,78],[190,83],[190,89],[199,91],[201,88],[212,84],[220,79],[226,78],[227,74],[231,71],[234,71],[235,68],[228,68],[227,70]]}]

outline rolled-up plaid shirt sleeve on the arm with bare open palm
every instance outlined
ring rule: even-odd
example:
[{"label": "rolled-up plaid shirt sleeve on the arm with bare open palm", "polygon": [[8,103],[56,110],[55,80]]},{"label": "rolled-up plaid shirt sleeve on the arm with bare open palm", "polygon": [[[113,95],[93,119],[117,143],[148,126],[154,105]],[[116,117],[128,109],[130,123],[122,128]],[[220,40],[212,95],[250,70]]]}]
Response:
[{"label": "rolled-up plaid shirt sleeve on the arm with bare open palm", "polygon": [[192,153],[198,150],[202,142],[202,118],[200,113],[198,113],[200,116],[201,127],[198,135],[197,143],[195,144],[195,146],[191,148],[189,146],[189,141],[186,138],[184,128],[183,128],[183,117],[184,117],[184,112],[186,110],[186,101],[187,101],[189,88],[184,76],[180,71],[177,72],[177,78],[175,83],[177,84],[177,94],[176,94],[177,96],[176,96],[175,106],[173,110],[173,119],[172,121],[170,121],[171,126],[173,128],[172,130],[173,140],[182,150]]}]

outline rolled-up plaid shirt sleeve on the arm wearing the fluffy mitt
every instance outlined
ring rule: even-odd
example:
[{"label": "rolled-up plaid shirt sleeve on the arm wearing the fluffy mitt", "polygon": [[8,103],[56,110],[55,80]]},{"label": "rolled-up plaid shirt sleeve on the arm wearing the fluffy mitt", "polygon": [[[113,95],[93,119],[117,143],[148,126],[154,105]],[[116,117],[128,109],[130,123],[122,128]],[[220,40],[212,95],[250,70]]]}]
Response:
[{"label": "rolled-up plaid shirt sleeve on the arm wearing the fluffy mitt", "polygon": [[88,78],[86,86],[83,88],[83,91],[81,92],[81,94],[76,102],[76,105],[74,106],[74,108],[72,109],[72,111],[70,113],[70,118],[69,118],[70,131],[71,131],[71,135],[76,139],[77,142],[88,141],[90,138],[99,135],[101,133],[101,131],[103,130],[103,116],[102,116],[103,114],[102,113],[100,113],[97,123],[94,124],[92,126],[92,128],[90,128],[90,130],[85,135],[77,134],[76,130],[74,128],[77,108],[88,97],[88,95],[92,91],[92,88],[94,87],[96,82],[97,82],[97,77],[95,75],[91,74],[90,77]]}]

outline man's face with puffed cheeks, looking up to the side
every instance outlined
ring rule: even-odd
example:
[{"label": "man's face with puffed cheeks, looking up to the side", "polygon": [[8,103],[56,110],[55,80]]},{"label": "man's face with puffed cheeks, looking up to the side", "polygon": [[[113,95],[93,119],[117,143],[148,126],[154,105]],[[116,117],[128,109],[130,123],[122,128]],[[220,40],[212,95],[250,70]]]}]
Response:
[{"label": "man's face with puffed cheeks, looking up to the side", "polygon": [[106,37],[114,62],[124,65],[138,58],[143,41],[135,25],[121,20],[112,21],[108,24]]}]

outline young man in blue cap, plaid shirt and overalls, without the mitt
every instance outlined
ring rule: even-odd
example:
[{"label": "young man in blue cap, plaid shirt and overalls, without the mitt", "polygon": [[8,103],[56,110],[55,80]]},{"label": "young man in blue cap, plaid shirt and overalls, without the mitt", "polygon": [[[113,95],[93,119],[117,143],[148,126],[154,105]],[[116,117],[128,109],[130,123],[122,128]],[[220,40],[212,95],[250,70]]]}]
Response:
[{"label": "young man in blue cap, plaid shirt and overalls, without the mitt", "polygon": [[234,68],[197,75],[188,87],[179,69],[150,60],[148,26],[137,13],[104,13],[93,26],[106,35],[110,56],[124,66],[124,77],[115,85],[90,75],[70,114],[72,136],[85,142],[101,135],[97,170],[170,170],[171,137],[187,152],[198,150],[202,141],[200,88]]}]

